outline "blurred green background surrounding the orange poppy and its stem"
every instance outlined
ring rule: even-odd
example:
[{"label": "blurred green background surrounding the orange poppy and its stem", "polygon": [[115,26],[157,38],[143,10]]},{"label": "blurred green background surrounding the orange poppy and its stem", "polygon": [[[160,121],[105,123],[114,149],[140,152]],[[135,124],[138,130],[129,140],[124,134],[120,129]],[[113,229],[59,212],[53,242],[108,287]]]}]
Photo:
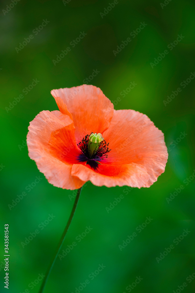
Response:
[{"label": "blurred green background surrounding the orange poppy and its stem", "polygon": [[[38,275],[46,272],[73,206],[73,191],[49,184],[35,162],[29,159],[26,147],[29,122],[42,110],[58,109],[50,94],[52,89],[81,85],[93,70],[99,73],[89,84],[100,87],[115,102],[115,109],[142,112],[162,130],[169,147],[169,159],[165,172],[150,188],[127,190],[126,187],[86,184],[63,249],[73,242],[77,245],[64,258],[57,259],[44,292],[194,292],[195,79],[191,72],[195,71],[195,4],[186,0],[165,1],[167,5],[152,0],[119,0],[115,1],[115,7],[111,7],[114,6],[112,0],[111,6],[109,1],[97,0],[12,3],[3,1],[0,16],[0,292],[7,292],[4,288],[4,224],[9,224],[10,233],[9,292],[22,293],[28,289],[36,293],[41,285],[36,281]],[[105,10],[109,6],[112,9]],[[36,30],[43,20],[48,21],[47,25]],[[141,22],[146,26],[139,30]],[[86,35],[73,47],[70,42],[78,38],[80,32]],[[29,35],[33,38],[21,50],[16,49]],[[178,35],[184,38],[176,44]],[[114,54],[113,50],[127,38],[131,38],[131,42]],[[171,50],[171,45],[167,46],[172,42]],[[71,48],[70,52],[54,65],[53,60],[67,47]],[[165,56],[164,50],[168,52]],[[159,53],[164,56],[162,60]],[[155,58],[158,59],[155,61]],[[154,61],[156,64],[152,65]],[[25,88],[33,79],[39,82],[25,94]],[[186,81],[185,87],[181,85],[183,81]],[[124,96],[121,92],[126,91],[131,82],[137,85]],[[181,91],[176,94],[179,87]],[[172,91],[176,96],[169,98],[169,103],[163,102]],[[13,105],[21,94],[24,98]],[[121,100],[116,102],[118,97]],[[185,135],[179,139],[181,132]],[[26,186],[31,185],[36,176],[42,179],[27,190]],[[184,189],[179,191],[180,185],[184,185]],[[23,192],[27,195],[9,208]],[[172,196],[169,201],[171,193],[175,198]],[[124,198],[107,212],[106,207],[120,195]],[[50,222],[49,214],[55,216]],[[144,224],[146,227],[139,233],[136,228],[146,217],[153,220],[147,226]],[[79,241],[78,235],[86,226],[93,229]],[[39,233],[23,246],[25,238],[36,229]],[[176,244],[174,239],[182,235],[184,229],[190,233]],[[120,249],[119,245],[125,245],[123,241],[134,232],[137,236]],[[165,248],[169,251],[172,244],[174,248],[166,253]],[[163,258],[161,253],[167,255]],[[89,275],[97,273],[99,264],[105,268],[92,280]],[[143,280],[136,284],[136,277]],[[76,291],[87,279],[90,283]],[[187,287],[182,285],[184,282]],[[129,287],[135,284],[135,288]]]}]

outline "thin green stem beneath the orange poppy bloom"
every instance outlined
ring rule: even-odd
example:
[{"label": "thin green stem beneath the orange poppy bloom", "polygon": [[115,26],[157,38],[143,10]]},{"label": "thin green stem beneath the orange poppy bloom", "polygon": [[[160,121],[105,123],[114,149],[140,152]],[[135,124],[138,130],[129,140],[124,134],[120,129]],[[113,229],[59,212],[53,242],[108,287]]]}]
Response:
[{"label": "thin green stem beneath the orange poppy bloom", "polygon": [[78,199],[79,199],[79,196],[80,196],[80,193],[81,193],[81,189],[82,189],[82,187],[79,188],[78,191],[77,191],[77,195],[76,195],[76,198],[75,198],[75,202],[74,202],[74,205],[73,205],[72,212],[71,212],[70,217],[69,217],[69,219],[68,219],[68,223],[67,223],[66,226],[65,226],[65,229],[64,229],[64,232],[63,232],[62,237],[61,237],[61,239],[60,239],[60,242],[58,243],[58,247],[57,247],[56,253],[55,253],[55,255],[53,256],[53,259],[51,260],[51,263],[50,263],[50,265],[49,265],[49,267],[48,267],[48,270],[47,270],[47,272],[46,272],[46,275],[45,275],[45,277],[44,277],[44,279],[43,279],[43,283],[42,283],[42,285],[41,285],[41,288],[40,288],[40,290],[39,290],[39,293],[42,293],[42,292],[43,292],[43,290],[44,290],[44,288],[45,288],[45,286],[46,286],[46,283],[47,283],[48,277],[49,277],[49,275],[50,275],[50,273],[51,273],[51,270],[52,270],[52,268],[53,268],[53,265],[54,265],[54,263],[55,263],[55,261],[56,261],[56,258],[58,257],[58,253],[60,252],[60,249],[61,249],[62,244],[63,244],[63,242],[64,242],[64,239],[65,239],[66,233],[67,233],[68,228],[69,228],[69,226],[70,226],[70,223],[71,223],[71,221],[72,221],[72,219],[73,219],[73,216],[74,216],[74,213],[75,213],[75,209],[76,209],[76,207],[77,207]]}]

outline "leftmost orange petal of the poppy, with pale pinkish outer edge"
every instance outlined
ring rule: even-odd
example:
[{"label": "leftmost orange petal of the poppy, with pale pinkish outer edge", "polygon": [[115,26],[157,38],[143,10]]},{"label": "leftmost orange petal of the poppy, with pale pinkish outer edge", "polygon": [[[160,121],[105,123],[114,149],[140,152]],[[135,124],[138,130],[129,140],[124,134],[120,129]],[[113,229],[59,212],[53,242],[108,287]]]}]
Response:
[{"label": "leftmost orange petal of the poppy, with pale pinkish outer edge", "polygon": [[27,134],[29,157],[54,186],[80,188],[85,182],[71,175],[78,149],[73,121],[60,111],[42,111],[30,122]]}]

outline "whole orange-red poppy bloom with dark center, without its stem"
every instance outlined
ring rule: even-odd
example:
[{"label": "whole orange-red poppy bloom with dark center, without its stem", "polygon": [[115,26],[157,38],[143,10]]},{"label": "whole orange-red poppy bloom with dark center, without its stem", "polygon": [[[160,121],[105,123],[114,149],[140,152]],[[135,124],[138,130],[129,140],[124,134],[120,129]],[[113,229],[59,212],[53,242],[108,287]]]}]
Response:
[{"label": "whole orange-red poppy bloom with dark center, without its stem", "polygon": [[[114,110],[92,85],[51,94],[60,111],[40,112],[27,135],[29,156],[49,183],[70,190],[88,180],[97,186],[140,188],[149,187],[164,172],[164,135],[146,115]],[[90,149],[92,132],[103,137],[95,151]]]}]

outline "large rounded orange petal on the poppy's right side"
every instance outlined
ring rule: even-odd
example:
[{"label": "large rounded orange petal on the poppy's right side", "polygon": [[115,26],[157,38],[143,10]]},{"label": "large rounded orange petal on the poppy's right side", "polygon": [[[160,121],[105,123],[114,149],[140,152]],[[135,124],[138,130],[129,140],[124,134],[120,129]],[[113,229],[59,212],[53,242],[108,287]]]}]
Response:
[{"label": "large rounded orange petal on the poppy's right side", "polygon": [[[144,114],[134,110],[115,110],[109,128],[103,132],[111,151],[108,162],[139,164],[147,170],[149,179],[142,187],[149,187],[164,172],[168,153],[164,134]],[[142,173],[137,173],[141,180]]]}]

